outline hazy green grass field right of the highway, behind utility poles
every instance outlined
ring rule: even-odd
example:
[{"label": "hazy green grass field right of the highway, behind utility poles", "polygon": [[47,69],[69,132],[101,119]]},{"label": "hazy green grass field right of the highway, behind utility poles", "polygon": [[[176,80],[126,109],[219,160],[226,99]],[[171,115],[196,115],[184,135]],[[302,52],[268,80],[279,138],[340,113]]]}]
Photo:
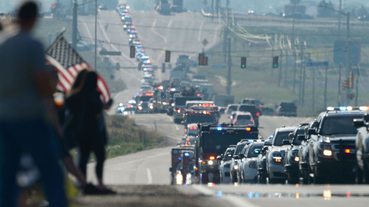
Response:
[{"label": "hazy green grass field right of the highway, behind utility poles", "polygon": [[[366,78],[368,78],[366,67],[369,65],[368,56],[366,55],[369,54],[369,39],[366,38],[368,31],[368,27],[351,30],[351,35],[354,39],[359,39],[361,43],[361,63],[359,65],[361,70],[358,70],[356,66],[352,66],[352,70],[355,72],[355,81],[358,75],[360,75],[358,105],[369,104],[367,98],[369,93],[365,90],[369,87],[366,81]],[[241,31],[237,30],[235,33],[231,32],[231,94],[235,95],[237,102],[241,101],[242,98],[259,98],[266,105],[274,106],[280,101],[293,101],[299,105],[299,116],[313,116],[321,112],[325,109],[325,67],[306,67],[304,78],[302,73],[303,67],[297,65],[295,90],[293,92],[295,72],[293,54],[296,51],[296,60],[311,58],[314,61],[329,62],[330,65],[327,69],[327,106],[337,106],[339,66],[333,65],[333,43],[335,39],[338,39],[336,32],[337,30],[333,31],[331,28],[296,29],[295,34],[299,34],[296,35],[296,38],[299,39],[300,45],[296,50],[292,49],[292,46],[290,46],[292,44],[289,42],[292,36],[292,28],[247,27],[242,28]],[[344,30],[342,32],[344,35]],[[270,36],[269,45],[263,39],[266,35]],[[345,36],[342,36],[342,38],[345,38]],[[271,46],[273,46],[274,51]],[[281,48],[283,48],[282,53]],[[286,57],[286,54],[288,54],[288,57]],[[209,65],[200,66],[198,71],[200,74],[206,75],[210,82],[214,84],[215,92],[225,94],[227,69],[211,68],[213,64],[227,65],[227,62],[224,62],[223,44],[207,51],[207,56],[209,57]],[[273,56],[280,56],[278,69],[272,69]],[[246,69],[241,69],[241,57],[247,57]],[[315,100],[313,109],[314,70]],[[358,71],[360,72],[358,73]],[[345,76],[345,67],[342,68],[341,72],[342,83]],[[300,83],[302,88],[303,82],[305,82],[305,90],[302,102],[303,92],[301,89],[299,98],[299,89]],[[356,96],[356,87],[352,93]],[[355,105],[355,98],[350,102],[350,105]]]}]

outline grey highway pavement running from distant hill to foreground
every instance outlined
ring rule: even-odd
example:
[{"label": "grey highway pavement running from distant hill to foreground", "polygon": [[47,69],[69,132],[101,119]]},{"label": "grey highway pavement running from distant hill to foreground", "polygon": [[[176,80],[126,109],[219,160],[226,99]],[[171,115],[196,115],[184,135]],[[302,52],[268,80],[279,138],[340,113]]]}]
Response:
[{"label": "grey highway pavement running from distant hill to foreground", "polygon": [[[188,55],[192,55],[196,59],[196,54],[203,48],[200,42],[204,38],[210,42],[205,49],[211,48],[221,41],[221,24],[216,21],[211,22],[210,18],[204,18],[199,13],[182,13],[170,17],[159,15],[154,11],[130,11],[130,13],[144,45],[147,48],[152,48],[147,49],[148,55],[158,66],[161,66],[164,60],[165,50],[188,52]],[[94,23],[92,19],[91,16],[79,16],[78,28],[81,36],[93,39]],[[107,23],[109,25],[105,31],[104,25]],[[167,29],[165,27],[183,29]],[[128,35],[120,25],[119,15],[115,11],[99,11],[97,39],[104,41],[102,46],[108,51],[122,52],[122,56],[110,56],[113,63],[118,62],[124,67],[137,66],[135,59],[129,58]],[[171,63],[173,66],[178,54],[172,54]],[[168,79],[168,73],[161,74],[159,72],[156,75],[157,78]],[[115,104],[125,103],[132,99],[141,85],[142,74],[142,71],[137,69],[116,71],[115,78],[124,81],[128,88],[112,94]],[[113,113],[114,108],[109,111],[110,114]],[[184,126],[174,124],[172,117],[166,114],[140,114],[131,115],[131,117],[138,125],[146,129],[153,130],[156,124],[158,133],[167,137],[166,147],[108,159],[104,165],[103,179],[107,185],[111,185],[113,189],[117,190],[118,196],[85,196],[79,198],[80,203],[87,206],[124,206],[124,204],[125,206],[182,206],[182,204],[186,204],[190,206],[254,207],[347,206],[352,204],[354,199],[355,206],[366,206],[369,201],[367,198],[368,186],[355,185],[169,186],[169,151],[180,140]],[[221,121],[226,119],[226,115],[221,117]],[[282,125],[296,126],[310,120],[312,118],[261,116],[259,133],[263,137],[268,137],[277,127]],[[89,164],[87,175],[88,180],[96,182],[94,163]],[[147,185],[153,185],[153,187]],[[197,199],[194,199],[195,197]],[[132,203],[128,201],[132,201]]]}]

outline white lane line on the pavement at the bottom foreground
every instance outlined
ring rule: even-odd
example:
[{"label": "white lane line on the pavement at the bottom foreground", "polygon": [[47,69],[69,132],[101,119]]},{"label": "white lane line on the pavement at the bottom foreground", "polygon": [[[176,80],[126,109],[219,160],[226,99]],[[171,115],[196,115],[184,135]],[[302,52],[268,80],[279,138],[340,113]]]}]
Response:
[{"label": "white lane line on the pavement at the bottom foreground", "polygon": [[[199,191],[200,193],[203,193],[207,196],[215,196],[217,193],[214,190],[210,190],[205,186],[202,185],[192,185],[192,187]],[[228,201],[229,203],[233,204],[235,207],[259,207],[258,205],[255,205],[254,203],[251,203],[250,201],[246,200],[245,198],[242,199],[242,197],[238,196],[227,196],[223,195],[220,197],[220,199],[224,199]]]}]

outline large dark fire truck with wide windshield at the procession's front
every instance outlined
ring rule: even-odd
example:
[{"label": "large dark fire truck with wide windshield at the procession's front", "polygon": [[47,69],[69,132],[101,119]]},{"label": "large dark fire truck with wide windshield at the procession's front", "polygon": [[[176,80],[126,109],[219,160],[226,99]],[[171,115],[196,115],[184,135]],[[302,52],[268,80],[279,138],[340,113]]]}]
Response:
[{"label": "large dark fire truck with wide windshield at the procession's front", "polygon": [[196,170],[198,183],[220,183],[221,155],[230,145],[243,139],[258,140],[255,126],[232,126],[230,124],[201,125],[195,141]]}]

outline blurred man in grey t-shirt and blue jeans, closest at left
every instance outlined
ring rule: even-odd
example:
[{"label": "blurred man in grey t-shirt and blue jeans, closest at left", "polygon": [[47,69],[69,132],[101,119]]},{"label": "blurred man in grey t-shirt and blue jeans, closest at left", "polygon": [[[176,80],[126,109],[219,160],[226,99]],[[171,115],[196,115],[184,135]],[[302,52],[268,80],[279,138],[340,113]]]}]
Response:
[{"label": "blurred man in grey t-shirt and blue jeans, closest at left", "polygon": [[34,2],[23,3],[17,15],[20,31],[0,43],[0,206],[16,205],[15,175],[23,152],[32,156],[41,173],[49,206],[67,206],[48,128],[53,91],[44,49],[30,35],[37,14]]}]

